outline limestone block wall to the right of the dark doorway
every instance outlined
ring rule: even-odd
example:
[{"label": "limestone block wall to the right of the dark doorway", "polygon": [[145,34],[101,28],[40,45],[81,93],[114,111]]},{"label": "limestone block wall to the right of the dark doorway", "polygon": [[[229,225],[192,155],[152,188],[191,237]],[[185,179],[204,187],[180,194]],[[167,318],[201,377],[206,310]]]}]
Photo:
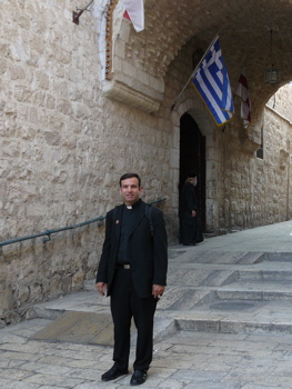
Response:
[{"label": "limestone block wall to the right of the dark doorway", "polygon": [[[253,228],[291,218],[292,124],[266,107],[259,123],[263,159],[242,151],[240,141],[224,144],[224,199],[220,223],[226,231]],[[223,173],[222,171],[222,173]]]}]

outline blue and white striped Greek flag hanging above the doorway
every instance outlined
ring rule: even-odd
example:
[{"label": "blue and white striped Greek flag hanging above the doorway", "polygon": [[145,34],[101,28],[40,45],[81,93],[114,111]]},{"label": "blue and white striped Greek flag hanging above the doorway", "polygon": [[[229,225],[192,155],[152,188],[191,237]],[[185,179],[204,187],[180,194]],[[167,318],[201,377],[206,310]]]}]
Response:
[{"label": "blue and white striped Greek flag hanging above the doorway", "polygon": [[194,70],[192,84],[207,104],[217,126],[222,126],[232,119],[234,107],[219,37]]}]

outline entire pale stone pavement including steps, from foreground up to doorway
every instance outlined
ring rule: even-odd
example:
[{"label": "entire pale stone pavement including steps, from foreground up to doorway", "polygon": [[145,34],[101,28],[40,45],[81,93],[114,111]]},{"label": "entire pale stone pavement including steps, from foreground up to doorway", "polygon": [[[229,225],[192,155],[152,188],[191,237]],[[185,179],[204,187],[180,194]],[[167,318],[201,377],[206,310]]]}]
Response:
[{"label": "entire pale stone pavement including steps, from foreground up to doorway", "polygon": [[[169,250],[142,388],[291,389],[292,221]],[[129,388],[130,375],[100,381],[112,365],[108,300],[91,280],[1,329],[0,388]]]}]

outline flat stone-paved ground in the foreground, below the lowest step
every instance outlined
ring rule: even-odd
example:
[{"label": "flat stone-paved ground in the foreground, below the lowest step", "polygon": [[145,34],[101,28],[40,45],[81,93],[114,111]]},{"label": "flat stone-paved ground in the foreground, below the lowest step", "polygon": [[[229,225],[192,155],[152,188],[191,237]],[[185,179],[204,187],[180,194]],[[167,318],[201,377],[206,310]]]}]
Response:
[{"label": "flat stone-paved ground in the foreground, below the lowest step", "polygon": [[[128,388],[130,375],[113,382],[100,376],[112,349],[36,341],[49,320],[34,319],[0,331],[0,387],[6,389]],[[292,336],[179,331],[154,345],[144,389],[292,388]],[[133,350],[131,362],[133,360]],[[130,373],[131,373],[130,368]]]}]

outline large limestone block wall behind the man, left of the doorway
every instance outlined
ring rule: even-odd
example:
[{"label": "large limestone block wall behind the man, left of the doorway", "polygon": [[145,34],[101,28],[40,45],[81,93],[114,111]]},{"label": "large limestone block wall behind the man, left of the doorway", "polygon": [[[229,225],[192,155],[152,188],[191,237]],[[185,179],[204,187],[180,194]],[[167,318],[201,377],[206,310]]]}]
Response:
[{"label": "large limestone block wall behind the man, left of the doorway", "polygon": [[[75,26],[80,1],[1,6],[0,241],[104,216],[125,171],[141,174],[145,201],[168,197],[171,128],[102,94],[91,13]],[[0,248],[0,325],[93,279],[103,237],[93,223]]]}]

